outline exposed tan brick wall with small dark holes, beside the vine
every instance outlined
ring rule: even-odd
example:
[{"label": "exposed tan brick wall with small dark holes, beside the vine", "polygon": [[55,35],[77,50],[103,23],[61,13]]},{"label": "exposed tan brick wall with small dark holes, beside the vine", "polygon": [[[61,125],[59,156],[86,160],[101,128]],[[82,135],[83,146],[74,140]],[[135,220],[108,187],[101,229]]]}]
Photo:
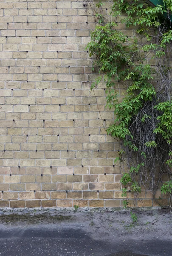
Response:
[{"label": "exposed tan brick wall with small dark holes, beside the vine", "polygon": [[104,84],[90,92],[94,27],[83,1],[0,2],[0,207],[122,206],[113,111]]}]

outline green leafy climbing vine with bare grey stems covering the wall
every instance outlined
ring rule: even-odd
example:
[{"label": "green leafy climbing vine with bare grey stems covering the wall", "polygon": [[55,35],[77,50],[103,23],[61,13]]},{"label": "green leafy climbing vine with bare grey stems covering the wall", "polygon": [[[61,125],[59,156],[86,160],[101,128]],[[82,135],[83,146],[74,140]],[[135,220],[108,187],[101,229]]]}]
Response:
[{"label": "green leafy climbing vine with bare grey stems covering the wall", "polygon": [[[143,187],[154,199],[161,187],[171,206],[172,0],[157,6],[145,0],[111,0],[108,15],[102,1],[84,2],[97,23],[87,45],[90,57],[96,56],[93,70],[100,73],[91,89],[103,81],[107,108],[114,111],[107,133],[120,141],[116,161],[123,167],[124,206],[128,192],[137,198]],[[161,184],[164,174],[168,180]]]}]

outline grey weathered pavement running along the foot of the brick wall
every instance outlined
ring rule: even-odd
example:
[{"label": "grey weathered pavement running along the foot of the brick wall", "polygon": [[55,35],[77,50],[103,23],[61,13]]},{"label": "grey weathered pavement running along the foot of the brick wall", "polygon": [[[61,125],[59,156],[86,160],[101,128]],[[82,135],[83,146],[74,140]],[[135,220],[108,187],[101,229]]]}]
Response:
[{"label": "grey weathered pavement running along the foot of the brick wall", "polygon": [[0,212],[0,256],[171,256],[172,216],[130,212]]}]

